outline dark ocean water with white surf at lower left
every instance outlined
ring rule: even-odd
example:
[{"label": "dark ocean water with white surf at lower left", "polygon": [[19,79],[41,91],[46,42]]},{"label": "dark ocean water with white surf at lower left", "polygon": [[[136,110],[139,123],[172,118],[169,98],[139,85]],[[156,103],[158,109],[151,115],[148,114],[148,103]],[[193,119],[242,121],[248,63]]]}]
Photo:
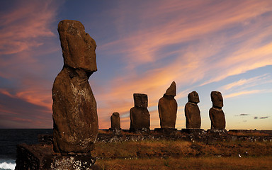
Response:
[{"label": "dark ocean water with white surf at lower left", "polygon": [[15,169],[16,145],[37,144],[39,134],[52,132],[52,129],[0,129],[0,170]]}]

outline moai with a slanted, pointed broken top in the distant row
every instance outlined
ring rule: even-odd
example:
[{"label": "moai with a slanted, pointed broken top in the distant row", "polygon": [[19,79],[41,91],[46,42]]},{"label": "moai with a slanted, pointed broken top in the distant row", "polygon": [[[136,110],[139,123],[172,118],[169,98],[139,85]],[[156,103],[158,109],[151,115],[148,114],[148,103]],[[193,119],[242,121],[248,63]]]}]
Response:
[{"label": "moai with a slanted, pointed broken top in the distant row", "polygon": [[176,83],[173,81],[164,96],[159,99],[158,109],[161,128],[175,128],[176,112],[178,111],[175,96]]}]

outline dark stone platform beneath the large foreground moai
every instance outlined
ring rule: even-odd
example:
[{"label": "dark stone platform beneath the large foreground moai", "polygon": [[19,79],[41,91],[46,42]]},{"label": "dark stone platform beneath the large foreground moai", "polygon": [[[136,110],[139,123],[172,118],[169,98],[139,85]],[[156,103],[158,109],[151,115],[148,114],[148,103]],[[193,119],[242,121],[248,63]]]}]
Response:
[{"label": "dark stone platform beneath the large foreground moai", "polygon": [[[74,154],[74,153],[71,153]],[[53,152],[52,145],[18,145],[16,170],[100,170],[91,154],[61,155]]]}]

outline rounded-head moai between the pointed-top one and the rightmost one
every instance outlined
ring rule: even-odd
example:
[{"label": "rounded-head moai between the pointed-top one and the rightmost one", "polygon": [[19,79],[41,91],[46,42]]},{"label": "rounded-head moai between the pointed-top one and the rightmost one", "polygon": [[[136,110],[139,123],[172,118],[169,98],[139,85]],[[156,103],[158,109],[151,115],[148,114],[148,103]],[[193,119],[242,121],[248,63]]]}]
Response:
[{"label": "rounded-head moai between the pointed-top one and the rightmost one", "polygon": [[196,91],[192,91],[188,94],[188,103],[186,103],[184,108],[187,129],[200,129],[201,118],[198,103],[199,97]]}]

